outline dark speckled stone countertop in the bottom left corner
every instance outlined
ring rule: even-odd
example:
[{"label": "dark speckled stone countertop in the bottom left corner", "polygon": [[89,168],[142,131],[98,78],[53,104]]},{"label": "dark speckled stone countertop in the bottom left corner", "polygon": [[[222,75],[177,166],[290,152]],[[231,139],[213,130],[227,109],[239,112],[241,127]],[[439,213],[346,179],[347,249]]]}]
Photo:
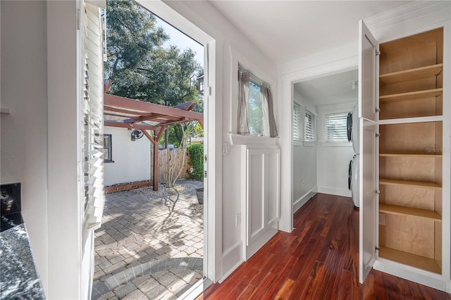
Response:
[{"label": "dark speckled stone countertop in the bottom left corner", "polygon": [[45,299],[25,224],[14,223],[20,220],[1,217],[3,229],[11,227],[0,232],[0,299]]}]

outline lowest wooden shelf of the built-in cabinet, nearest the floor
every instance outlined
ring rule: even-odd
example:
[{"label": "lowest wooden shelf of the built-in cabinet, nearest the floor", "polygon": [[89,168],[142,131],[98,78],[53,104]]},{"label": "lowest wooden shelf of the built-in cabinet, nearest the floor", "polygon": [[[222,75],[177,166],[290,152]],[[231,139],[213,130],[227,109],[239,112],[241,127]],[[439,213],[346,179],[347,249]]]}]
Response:
[{"label": "lowest wooden shelf of the built-in cabinet, nearest the floor", "polygon": [[404,251],[399,251],[391,248],[381,246],[379,248],[379,257],[396,261],[404,265],[412,265],[414,268],[420,268],[433,273],[442,273],[442,268],[432,258],[411,254]]}]

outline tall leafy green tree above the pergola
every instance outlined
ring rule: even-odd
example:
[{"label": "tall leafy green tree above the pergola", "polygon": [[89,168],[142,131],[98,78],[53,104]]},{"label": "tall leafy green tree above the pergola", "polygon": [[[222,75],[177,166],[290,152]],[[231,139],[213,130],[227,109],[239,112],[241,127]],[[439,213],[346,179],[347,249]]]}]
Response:
[{"label": "tall leafy green tree above the pergola", "polygon": [[165,48],[169,36],[156,27],[155,16],[130,0],[106,1],[105,78],[110,94],[175,106],[188,101],[202,109],[192,78],[202,75],[192,49]]}]

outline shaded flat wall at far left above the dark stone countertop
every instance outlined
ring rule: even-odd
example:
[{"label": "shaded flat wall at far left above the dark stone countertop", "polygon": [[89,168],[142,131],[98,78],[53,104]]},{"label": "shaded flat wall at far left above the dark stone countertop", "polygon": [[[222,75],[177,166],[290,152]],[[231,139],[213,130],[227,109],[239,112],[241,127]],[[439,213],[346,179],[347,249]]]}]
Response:
[{"label": "shaded flat wall at far left above the dark stone countertop", "polygon": [[0,179],[22,182],[23,218],[47,291],[47,7],[42,1],[0,1],[0,7],[1,108],[11,108],[0,116]]}]

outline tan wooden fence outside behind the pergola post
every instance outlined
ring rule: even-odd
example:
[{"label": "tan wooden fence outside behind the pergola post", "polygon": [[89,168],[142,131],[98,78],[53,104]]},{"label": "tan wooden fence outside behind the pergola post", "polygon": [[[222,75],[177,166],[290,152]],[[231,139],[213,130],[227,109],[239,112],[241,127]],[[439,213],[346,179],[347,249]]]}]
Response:
[{"label": "tan wooden fence outside behind the pergola post", "polygon": [[[166,182],[166,178],[168,176],[168,173],[173,173],[173,176],[177,176],[180,172],[180,175],[178,175],[177,179],[185,178],[189,175],[189,161],[190,157],[187,154],[188,152],[186,149],[174,149],[172,151],[169,151],[169,149],[163,149],[159,150],[158,154],[158,181],[161,183]],[[153,151],[151,151],[151,170],[152,170],[152,163],[154,161],[153,158]],[[152,177],[154,175],[152,174]]]}]

